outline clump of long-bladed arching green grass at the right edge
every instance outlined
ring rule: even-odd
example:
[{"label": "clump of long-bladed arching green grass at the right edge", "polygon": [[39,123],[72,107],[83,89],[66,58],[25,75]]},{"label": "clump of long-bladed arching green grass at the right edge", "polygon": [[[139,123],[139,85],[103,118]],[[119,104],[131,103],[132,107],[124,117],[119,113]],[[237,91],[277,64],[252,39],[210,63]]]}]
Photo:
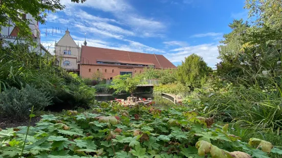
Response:
[{"label": "clump of long-bladed arching green grass at the right edge", "polygon": [[[229,116],[242,125],[258,128],[282,128],[281,89],[266,91],[259,87],[232,87],[225,93],[202,98],[208,103],[208,114],[223,119]],[[222,115],[225,115],[222,117]]]}]

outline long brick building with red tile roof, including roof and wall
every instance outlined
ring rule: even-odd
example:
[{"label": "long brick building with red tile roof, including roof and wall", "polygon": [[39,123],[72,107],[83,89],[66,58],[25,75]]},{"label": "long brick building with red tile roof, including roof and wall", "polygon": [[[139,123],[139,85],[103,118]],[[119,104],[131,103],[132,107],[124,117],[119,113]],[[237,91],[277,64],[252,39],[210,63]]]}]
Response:
[{"label": "long brick building with red tile roof, including roof and wall", "polygon": [[176,69],[163,55],[114,50],[91,46],[81,47],[80,76],[91,78],[95,71],[103,73],[105,79],[112,80],[119,74],[142,73],[144,67]]}]

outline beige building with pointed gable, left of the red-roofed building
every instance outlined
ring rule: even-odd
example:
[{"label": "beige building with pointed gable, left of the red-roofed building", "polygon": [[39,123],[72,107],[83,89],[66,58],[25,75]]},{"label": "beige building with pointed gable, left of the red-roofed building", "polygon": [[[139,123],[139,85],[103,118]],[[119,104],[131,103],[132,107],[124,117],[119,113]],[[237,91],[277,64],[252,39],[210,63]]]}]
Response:
[{"label": "beige building with pointed gable, left of the red-roofed building", "polygon": [[81,48],[75,43],[67,29],[66,34],[55,43],[55,54],[58,57],[59,66],[67,71],[79,74]]}]

